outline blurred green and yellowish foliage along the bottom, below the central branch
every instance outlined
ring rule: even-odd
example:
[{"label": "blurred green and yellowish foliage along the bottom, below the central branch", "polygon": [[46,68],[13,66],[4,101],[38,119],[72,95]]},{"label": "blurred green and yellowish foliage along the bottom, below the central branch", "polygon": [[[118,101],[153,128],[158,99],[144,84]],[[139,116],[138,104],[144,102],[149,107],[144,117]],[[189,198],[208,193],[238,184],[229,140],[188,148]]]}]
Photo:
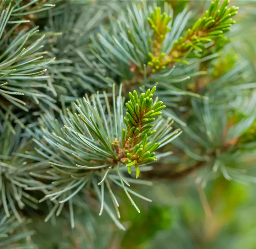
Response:
[{"label": "blurred green and yellowish foliage along the bottom, below the central branch", "polygon": [[126,232],[110,224],[107,217],[99,219],[96,213],[87,217],[88,213],[80,210],[73,230],[65,218],[59,219],[57,226],[35,219],[30,224],[36,231],[33,242],[52,249],[255,248],[253,185],[219,177],[202,189],[191,176],[177,183],[155,181],[154,187],[144,192],[153,202],[139,202],[141,214],[129,201],[122,202],[128,207],[122,213],[123,224],[129,227]]}]

